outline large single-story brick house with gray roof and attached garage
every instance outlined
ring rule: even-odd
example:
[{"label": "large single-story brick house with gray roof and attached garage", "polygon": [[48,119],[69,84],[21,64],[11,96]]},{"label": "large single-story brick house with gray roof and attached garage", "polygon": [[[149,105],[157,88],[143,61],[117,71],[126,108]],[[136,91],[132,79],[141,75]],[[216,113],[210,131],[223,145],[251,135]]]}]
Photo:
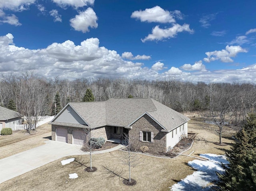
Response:
[{"label": "large single-story brick house with gray roof and attached garage", "polygon": [[152,152],[167,152],[188,135],[188,117],[151,98],[111,98],[70,102],[52,124],[52,140],[83,144],[84,128],[94,137],[121,140],[128,135]]}]

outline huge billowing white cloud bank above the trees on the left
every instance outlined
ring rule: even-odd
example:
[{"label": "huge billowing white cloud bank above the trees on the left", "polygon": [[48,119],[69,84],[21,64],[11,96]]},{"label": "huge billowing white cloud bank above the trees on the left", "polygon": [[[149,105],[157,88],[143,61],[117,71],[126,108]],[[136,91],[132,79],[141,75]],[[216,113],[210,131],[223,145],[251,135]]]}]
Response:
[{"label": "huge billowing white cloud bank above the trees on the left", "polygon": [[13,45],[13,38],[10,33],[0,36],[1,74],[34,71],[39,76],[70,79],[123,75],[128,78],[158,77],[156,71],[142,67],[143,63],[125,61],[116,51],[99,47],[97,38],[86,39],[80,45],[70,40],[52,43],[38,50],[17,47]]}]

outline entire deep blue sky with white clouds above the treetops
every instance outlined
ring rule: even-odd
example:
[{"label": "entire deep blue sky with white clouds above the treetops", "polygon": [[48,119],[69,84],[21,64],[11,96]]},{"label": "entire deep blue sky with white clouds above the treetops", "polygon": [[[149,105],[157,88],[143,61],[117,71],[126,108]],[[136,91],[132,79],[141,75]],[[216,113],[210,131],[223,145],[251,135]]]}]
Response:
[{"label": "entire deep blue sky with white clouds above the treetops", "polygon": [[256,82],[256,3],[0,0],[0,72]]}]

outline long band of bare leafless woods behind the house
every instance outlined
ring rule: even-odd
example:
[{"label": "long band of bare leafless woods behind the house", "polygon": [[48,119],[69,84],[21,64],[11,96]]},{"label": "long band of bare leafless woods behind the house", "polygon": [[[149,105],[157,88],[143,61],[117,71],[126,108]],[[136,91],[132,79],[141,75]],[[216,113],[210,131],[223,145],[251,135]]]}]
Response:
[{"label": "long band of bare leafless woods behind the house", "polygon": [[[239,125],[255,108],[256,85],[252,83],[190,83],[176,80],[97,78],[76,80],[48,79],[33,73],[5,75],[0,79],[0,104],[8,104],[29,116],[58,113],[68,102],[85,100],[90,89],[94,101],[109,98],[153,98],[178,111],[199,111]],[[210,111],[206,113],[206,111]],[[223,118],[224,117],[224,118]],[[224,121],[219,121],[222,124]]]}]

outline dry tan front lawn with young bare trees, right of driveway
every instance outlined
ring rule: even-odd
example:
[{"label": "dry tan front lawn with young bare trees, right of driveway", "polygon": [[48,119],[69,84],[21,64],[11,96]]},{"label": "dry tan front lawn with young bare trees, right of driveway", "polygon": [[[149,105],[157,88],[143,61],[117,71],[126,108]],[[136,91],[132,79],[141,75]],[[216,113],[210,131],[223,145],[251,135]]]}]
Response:
[{"label": "dry tan front lawn with young bare trees, right of driveway", "polygon": [[[211,131],[202,128],[202,122],[189,122],[189,131],[198,133],[197,137],[204,140],[196,140],[190,150],[184,154],[195,151],[192,156],[198,157],[198,154],[212,153],[224,154],[224,150],[229,148],[231,140],[223,138],[226,146],[218,146],[214,142],[218,142],[218,136]],[[207,140],[207,141],[205,141]],[[224,149],[224,150],[223,150]],[[151,156],[140,155],[142,163],[140,166],[132,168],[132,179],[137,181],[134,186],[126,186],[122,183],[122,179],[118,177],[108,177],[102,165],[118,167],[119,169],[127,169],[120,161],[123,152],[115,151],[106,154],[98,154],[93,156],[93,165],[98,168],[95,172],[85,172],[85,167],[76,165],[72,162],[66,165],[60,163],[63,159],[78,158],[79,156],[69,156],[59,159],[28,173],[20,175],[9,181],[0,184],[0,190],[5,191],[46,191],[46,190],[66,190],[66,191],[113,191],[113,190],[152,190],[167,191],[180,179],[190,175],[194,170],[187,165],[188,161],[193,160],[187,156],[178,156],[176,158],[155,158]],[[82,156],[88,160],[89,156]],[[77,173],[78,178],[69,179],[68,174]],[[128,172],[124,175],[128,178]]]}]

